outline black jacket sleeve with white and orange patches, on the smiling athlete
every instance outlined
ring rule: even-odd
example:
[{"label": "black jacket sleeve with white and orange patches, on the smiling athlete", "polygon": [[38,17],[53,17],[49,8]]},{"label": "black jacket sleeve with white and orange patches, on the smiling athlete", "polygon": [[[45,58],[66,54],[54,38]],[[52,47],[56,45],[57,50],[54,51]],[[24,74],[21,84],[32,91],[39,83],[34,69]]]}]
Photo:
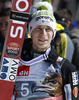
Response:
[{"label": "black jacket sleeve with white and orange patches, on the smiling athlete", "polygon": [[79,83],[76,66],[66,59],[61,72],[63,78],[63,100],[79,100]]}]

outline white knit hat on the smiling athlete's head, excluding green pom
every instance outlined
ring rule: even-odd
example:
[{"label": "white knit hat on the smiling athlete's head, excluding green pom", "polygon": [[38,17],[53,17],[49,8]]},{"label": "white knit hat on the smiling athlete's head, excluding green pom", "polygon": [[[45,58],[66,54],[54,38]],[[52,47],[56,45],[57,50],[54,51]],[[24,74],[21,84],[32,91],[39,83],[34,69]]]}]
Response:
[{"label": "white knit hat on the smiling athlete's head, excluding green pom", "polygon": [[52,28],[54,37],[56,34],[56,20],[54,16],[47,10],[38,10],[32,15],[32,20],[29,23],[29,34],[31,35],[33,29],[38,25],[47,25]]}]

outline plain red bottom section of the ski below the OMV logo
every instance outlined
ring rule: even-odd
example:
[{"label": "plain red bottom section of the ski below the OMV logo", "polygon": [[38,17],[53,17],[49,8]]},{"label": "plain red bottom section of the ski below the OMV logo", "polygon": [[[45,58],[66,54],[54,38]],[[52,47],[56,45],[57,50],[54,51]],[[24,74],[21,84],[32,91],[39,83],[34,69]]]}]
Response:
[{"label": "plain red bottom section of the ski below the OMV logo", "polygon": [[14,82],[0,80],[0,100],[11,100],[13,88]]}]

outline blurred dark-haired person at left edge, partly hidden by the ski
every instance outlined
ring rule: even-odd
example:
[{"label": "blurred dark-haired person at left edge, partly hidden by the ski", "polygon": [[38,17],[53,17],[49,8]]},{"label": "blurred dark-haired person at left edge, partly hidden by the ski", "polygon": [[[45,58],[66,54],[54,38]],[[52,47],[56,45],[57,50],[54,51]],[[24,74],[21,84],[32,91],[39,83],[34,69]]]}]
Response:
[{"label": "blurred dark-haired person at left edge, partly hidden by the ski", "polygon": [[10,17],[10,8],[2,9],[0,12],[0,59],[2,55],[4,40],[6,37],[9,17]]}]

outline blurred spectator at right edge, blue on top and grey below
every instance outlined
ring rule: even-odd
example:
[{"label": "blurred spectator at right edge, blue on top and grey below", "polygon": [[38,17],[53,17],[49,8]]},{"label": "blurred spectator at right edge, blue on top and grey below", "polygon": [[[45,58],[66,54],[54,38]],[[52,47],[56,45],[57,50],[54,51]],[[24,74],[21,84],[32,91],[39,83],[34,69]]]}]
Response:
[{"label": "blurred spectator at right edge, blue on top and grey below", "polygon": [[74,43],[74,54],[72,58],[72,63],[76,65],[77,70],[79,70],[79,29],[77,22],[72,23],[70,37]]}]

